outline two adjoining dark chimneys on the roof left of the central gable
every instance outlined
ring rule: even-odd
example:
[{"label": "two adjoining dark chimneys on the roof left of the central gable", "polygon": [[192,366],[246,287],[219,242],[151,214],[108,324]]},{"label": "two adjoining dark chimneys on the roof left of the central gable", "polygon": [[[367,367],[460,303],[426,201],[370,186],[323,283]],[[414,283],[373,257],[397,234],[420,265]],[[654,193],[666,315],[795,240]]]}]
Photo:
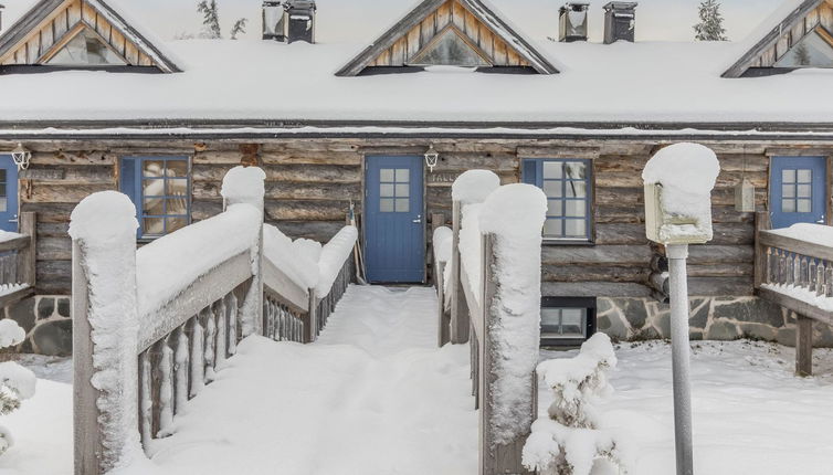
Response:
[{"label": "two adjoining dark chimneys on the roof left of the central gable", "polygon": [[313,0],[266,0],[263,2],[263,39],[285,43],[315,43]]}]

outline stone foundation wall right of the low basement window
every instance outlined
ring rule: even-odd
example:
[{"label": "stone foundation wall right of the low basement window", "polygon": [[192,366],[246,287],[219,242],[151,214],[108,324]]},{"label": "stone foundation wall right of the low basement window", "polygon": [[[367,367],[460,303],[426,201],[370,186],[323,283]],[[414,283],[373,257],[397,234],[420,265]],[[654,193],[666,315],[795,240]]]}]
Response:
[{"label": "stone foundation wall right of the low basement window", "polygon": [[[795,346],[795,318],[757,297],[692,297],[692,340],[752,338]],[[647,298],[599,298],[598,329],[620,340],[671,338],[671,308]],[[833,331],[813,326],[814,346],[833,348]]]}]

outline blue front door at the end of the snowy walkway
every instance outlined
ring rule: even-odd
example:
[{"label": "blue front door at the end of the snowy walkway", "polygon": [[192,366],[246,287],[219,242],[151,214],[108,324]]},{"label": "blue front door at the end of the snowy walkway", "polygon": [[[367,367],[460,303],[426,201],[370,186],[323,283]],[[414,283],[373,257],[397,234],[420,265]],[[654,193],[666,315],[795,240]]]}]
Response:
[{"label": "blue front door at the end of the snowy walkway", "polygon": [[367,276],[373,283],[425,281],[422,157],[368,157]]}]

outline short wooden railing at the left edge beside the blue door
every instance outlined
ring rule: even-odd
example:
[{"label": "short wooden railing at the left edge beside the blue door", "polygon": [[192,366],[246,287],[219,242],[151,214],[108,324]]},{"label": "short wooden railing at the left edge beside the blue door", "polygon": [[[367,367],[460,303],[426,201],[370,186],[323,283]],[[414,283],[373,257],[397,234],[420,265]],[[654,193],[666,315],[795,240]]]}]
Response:
[{"label": "short wooden railing at the left edge beside the blue door", "polygon": [[0,308],[34,294],[35,223],[35,213],[20,213],[19,235],[0,242]]}]

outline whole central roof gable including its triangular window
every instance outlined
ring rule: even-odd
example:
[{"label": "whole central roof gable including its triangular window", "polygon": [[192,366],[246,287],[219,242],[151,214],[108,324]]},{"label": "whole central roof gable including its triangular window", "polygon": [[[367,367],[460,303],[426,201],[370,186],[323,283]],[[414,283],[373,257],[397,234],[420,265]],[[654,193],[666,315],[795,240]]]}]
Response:
[{"label": "whole central roof gable including its triangular window", "polygon": [[425,65],[515,66],[558,73],[483,0],[425,0],[337,75],[356,76],[367,67]]}]

